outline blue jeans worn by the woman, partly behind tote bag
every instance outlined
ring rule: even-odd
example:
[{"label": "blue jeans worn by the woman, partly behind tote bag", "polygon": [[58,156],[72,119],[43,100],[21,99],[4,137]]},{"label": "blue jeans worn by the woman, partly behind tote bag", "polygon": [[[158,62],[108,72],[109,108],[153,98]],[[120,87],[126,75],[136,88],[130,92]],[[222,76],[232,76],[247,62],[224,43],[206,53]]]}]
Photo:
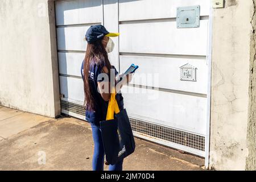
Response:
[{"label": "blue jeans worn by the woman, partly behind tote bag", "polygon": [[[92,136],[94,142],[94,152],[93,152],[93,161],[92,168],[93,171],[103,171],[104,169],[104,146],[101,137],[100,126],[90,124],[92,126]],[[109,165],[109,171],[122,171],[123,160],[114,165]]]}]

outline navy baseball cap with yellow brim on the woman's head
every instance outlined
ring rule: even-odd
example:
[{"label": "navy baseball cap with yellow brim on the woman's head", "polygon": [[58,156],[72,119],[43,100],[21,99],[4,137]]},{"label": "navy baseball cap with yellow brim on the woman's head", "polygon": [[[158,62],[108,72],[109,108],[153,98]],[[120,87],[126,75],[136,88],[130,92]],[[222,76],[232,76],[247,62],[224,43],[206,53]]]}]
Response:
[{"label": "navy baseball cap with yellow brim on the woman's head", "polygon": [[88,43],[93,43],[96,40],[102,39],[104,36],[118,36],[119,33],[110,33],[101,24],[90,26],[85,34],[85,40]]}]

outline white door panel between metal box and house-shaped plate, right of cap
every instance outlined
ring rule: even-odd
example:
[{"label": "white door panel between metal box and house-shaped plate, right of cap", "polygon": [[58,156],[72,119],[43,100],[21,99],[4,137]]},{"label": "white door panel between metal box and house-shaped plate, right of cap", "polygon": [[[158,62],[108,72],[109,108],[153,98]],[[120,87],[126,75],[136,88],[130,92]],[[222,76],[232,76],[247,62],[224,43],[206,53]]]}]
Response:
[{"label": "white door panel between metal box and house-shaped plate, right of cap", "polygon": [[207,55],[208,20],[199,28],[176,28],[176,22],[120,24],[119,51],[172,55]]}]

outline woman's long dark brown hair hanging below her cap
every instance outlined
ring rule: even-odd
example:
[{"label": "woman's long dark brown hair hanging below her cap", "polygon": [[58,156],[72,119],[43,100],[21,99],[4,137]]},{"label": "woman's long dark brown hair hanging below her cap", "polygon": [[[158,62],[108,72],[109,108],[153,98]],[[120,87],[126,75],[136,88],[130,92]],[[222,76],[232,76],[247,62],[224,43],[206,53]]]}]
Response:
[{"label": "woman's long dark brown hair hanging below her cap", "polygon": [[86,110],[95,110],[95,100],[92,95],[92,88],[89,85],[89,67],[90,64],[105,65],[110,73],[111,64],[108,59],[108,53],[101,43],[101,40],[96,40],[92,44],[87,44],[85,59],[84,59],[84,106]]}]

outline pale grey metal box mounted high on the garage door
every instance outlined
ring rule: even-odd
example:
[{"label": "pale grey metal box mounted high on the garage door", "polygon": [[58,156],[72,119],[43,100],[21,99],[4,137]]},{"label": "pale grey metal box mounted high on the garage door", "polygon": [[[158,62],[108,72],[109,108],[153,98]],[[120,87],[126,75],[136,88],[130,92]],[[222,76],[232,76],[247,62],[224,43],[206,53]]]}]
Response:
[{"label": "pale grey metal box mounted high on the garage door", "polygon": [[177,7],[177,28],[200,27],[200,6]]}]

